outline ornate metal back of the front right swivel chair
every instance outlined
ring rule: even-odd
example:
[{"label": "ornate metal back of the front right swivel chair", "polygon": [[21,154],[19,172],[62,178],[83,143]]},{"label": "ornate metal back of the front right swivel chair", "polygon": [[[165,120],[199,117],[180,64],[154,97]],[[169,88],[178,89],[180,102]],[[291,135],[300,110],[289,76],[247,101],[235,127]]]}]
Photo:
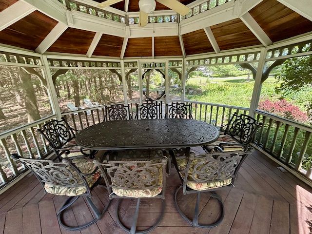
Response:
[{"label": "ornate metal back of the front right swivel chair", "polygon": [[206,153],[202,157],[191,154],[186,168],[180,172],[183,175],[183,192],[186,191],[188,182],[203,184],[232,179],[233,184],[241,164],[251,150],[252,148],[245,152]]}]

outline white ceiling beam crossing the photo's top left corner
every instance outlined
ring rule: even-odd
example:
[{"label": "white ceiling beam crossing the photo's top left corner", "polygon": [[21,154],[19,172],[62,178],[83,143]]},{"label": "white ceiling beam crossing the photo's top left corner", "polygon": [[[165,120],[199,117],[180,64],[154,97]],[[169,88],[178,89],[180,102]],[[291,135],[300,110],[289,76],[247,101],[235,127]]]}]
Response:
[{"label": "white ceiling beam crossing the photo's top left corner", "polygon": [[34,6],[23,1],[17,1],[13,5],[0,12],[0,31],[9,27],[25,16],[28,16],[35,10],[36,8]]}]

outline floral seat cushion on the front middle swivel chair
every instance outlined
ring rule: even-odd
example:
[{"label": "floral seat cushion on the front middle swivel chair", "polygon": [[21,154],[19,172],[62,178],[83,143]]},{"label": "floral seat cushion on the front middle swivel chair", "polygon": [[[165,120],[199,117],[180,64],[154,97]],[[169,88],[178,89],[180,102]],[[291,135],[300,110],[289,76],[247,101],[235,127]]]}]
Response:
[{"label": "floral seat cushion on the front middle swivel chair", "polygon": [[[144,189],[139,189],[139,188],[127,188],[127,189],[121,189],[118,188],[117,186],[115,186],[115,184],[112,184],[112,191],[114,194],[116,194],[117,196],[126,196],[126,197],[133,197],[133,198],[142,198],[142,197],[154,197],[158,194],[161,193],[162,191],[162,166],[159,166],[157,168],[158,171],[158,183],[157,183],[157,187],[148,189],[148,188],[144,188]],[[153,172],[150,172],[153,176]],[[155,174],[154,174],[155,175]]]}]

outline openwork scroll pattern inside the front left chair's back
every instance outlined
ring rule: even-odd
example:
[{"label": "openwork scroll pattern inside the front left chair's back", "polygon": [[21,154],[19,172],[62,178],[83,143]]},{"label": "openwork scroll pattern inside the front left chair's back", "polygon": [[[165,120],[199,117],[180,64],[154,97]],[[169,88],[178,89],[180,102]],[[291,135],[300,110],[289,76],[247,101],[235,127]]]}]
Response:
[{"label": "openwork scroll pattern inside the front left chair's back", "polygon": [[62,162],[26,158],[20,158],[19,160],[44,183],[66,187],[83,185],[78,174],[74,170],[69,170],[68,166]]}]

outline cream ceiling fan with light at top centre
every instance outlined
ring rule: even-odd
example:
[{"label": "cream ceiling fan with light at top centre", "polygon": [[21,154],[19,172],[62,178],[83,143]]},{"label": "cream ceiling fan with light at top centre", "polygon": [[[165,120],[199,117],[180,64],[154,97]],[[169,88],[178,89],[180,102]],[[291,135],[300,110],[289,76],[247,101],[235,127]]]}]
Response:
[{"label": "cream ceiling fan with light at top centre", "polygon": [[[104,7],[113,5],[119,1],[122,1],[122,0],[106,0],[106,1],[103,1],[102,3],[99,3],[98,7],[104,8]],[[186,5],[182,4],[181,2],[177,0],[156,0],[156,1],[176,11],[181,16],[186,15],[190,11],[189,7],[187,7]],[[147,25],[148,14],[155,11],[156,1],[155,0],[139,0],[138,6],[140,8],[140,16],[139,16],[140,27],[144,27]]]}]

